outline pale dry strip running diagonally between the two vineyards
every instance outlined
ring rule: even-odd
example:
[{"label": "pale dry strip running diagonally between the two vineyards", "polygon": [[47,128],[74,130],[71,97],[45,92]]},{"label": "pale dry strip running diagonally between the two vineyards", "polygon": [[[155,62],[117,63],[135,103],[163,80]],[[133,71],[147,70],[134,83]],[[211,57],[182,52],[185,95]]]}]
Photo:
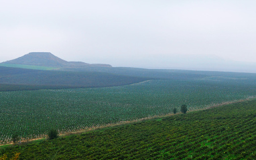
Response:
[{"label": "pale dry strip running diagonally between the two vineyards", "polygon": [[[149,80],[147,80],[147,81],[149,81]],[[144,82],[147,82],[147,81],[144,81]],[[143,82],[139,82],[139,83],[143,83]],[[233,100],[233,101],[229,101],[229,102],[222,102],[221,104],[214,104],[212,106],[209,106],[209,107],[206,107],[206,108],[201,108],[201,109],[198,109],[198,110],[207,110],[207,109],[210,109],[210,108],[225,106],[227,104],[234,104],[234,103],[237,103],[237,102],[244,102],[244,101],[247,101],[247,100],[253,100],[255,98],[256,97],[250,97],[250,98],[246,98],[246,99],[242,99],[242,100]],[[194,111],[198,111],[198,110],[190,110],[188,112],[194,112]],[[176,113],[176,114],[182,114],[182,113]],[[107,124],[107,125],[96,126],[96,127],[88,127],[86,129],[81,129],[81,130],[78,130],[78,131],[62,133],[59,136],[60,137],[66,137],[68,135],[79,135],[81,133],[86,133],[86,132],[93,131],[93,130],[96,130],[96,129],[103,129],[103,128],[107,128],[107,127],[115,127],[115,126],[119,126],[119,125],[125,125],[125,124],[128,124],[128,123],[136,123],[136,122],[144,121],[144,120],[147,120],[147,119],[163,118],[163,117],[166,117],[166,116],[173,116],[173,115],[174,115],[173,113],[170,113],[170,114],[164,114],[164,115],[159,115],[159,116],[157,116],[157,115],[156,116],[148,116],[148,117],[145,117],[145,118],[135,119],[133,121],[120,121],[119,123]],[[26,141],[20,141],[20,143],[29,143],[31,141],[36,141],[36,140],[40,140],[40,139],[47,139],[47,137],[29,139],[29,140],[26,140]],[[4,145],[14,145],[14,143],[7,143],[7,144],[4,144]],[[0,146],[3,146],[3,145],[0,145]]]}]

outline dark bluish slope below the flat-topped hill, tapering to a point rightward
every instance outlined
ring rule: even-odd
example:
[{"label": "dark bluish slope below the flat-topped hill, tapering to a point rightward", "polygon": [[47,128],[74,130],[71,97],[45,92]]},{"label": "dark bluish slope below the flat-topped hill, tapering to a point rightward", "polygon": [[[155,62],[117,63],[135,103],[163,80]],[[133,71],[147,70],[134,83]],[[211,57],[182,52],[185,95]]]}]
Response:
[{"label": "dark bluish slope below the flat-topped hill, tapering to a point rightward", "polygon": [[121,86],[144,80],[148,79],[101,72],[66,72],[0,67],[0,84],[3,86],[0,90],[21,90],[26,86],[27,89],[33,89],[33,87],[38,89]]}]

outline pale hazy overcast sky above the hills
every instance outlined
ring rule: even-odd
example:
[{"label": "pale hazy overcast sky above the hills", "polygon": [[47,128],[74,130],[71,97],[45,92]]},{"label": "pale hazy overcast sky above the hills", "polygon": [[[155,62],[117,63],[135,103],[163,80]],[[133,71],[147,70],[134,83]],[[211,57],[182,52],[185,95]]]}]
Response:
[{"label": "pale hazy overcast sky above the hills", "polygon": [[29,52],[142,68],[174,68],[197,60],[256,62],[255,0],[0,4],[1,62]]}]

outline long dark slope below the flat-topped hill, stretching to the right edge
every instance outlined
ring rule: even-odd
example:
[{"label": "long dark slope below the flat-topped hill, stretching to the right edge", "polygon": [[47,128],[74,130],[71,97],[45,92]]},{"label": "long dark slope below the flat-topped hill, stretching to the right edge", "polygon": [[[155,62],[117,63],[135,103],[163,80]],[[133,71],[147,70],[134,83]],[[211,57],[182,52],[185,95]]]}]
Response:
[{"label": "long dark slope below the flat-topped hill, stretching to the right edge", "polygon": [[[31,66],[31,68],[34,68]],[[36,69],[36,68],[34,68]],[[149,79],[195,80],[219,78],[255,82],[256,74],[202,72],[188,70],[147,70],[141,68],[68,68],[66,70],[27,70],[0,66],[0,91],[44,88],[105,87],[133,84]],[[63,68],[62,68],[63,69]],[[247,83],[245,82],[245,83]],[[9,84],[9,85],[6,85]]]}]

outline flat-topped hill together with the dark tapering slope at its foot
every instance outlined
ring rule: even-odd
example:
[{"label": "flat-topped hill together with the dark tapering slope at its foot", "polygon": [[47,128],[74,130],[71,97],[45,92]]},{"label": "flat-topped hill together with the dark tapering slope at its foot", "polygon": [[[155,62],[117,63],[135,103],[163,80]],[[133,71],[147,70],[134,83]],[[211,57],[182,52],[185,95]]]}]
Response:
[{"label": "flat-topped hill together with the dark tapering slope at its foot", "polygon": [[100,70],[76,70],[78,68],[112,67],[109,64],[68,62],[50,52],[31,52],[0,64],[0,90],[122,86],[149,80]]}]

